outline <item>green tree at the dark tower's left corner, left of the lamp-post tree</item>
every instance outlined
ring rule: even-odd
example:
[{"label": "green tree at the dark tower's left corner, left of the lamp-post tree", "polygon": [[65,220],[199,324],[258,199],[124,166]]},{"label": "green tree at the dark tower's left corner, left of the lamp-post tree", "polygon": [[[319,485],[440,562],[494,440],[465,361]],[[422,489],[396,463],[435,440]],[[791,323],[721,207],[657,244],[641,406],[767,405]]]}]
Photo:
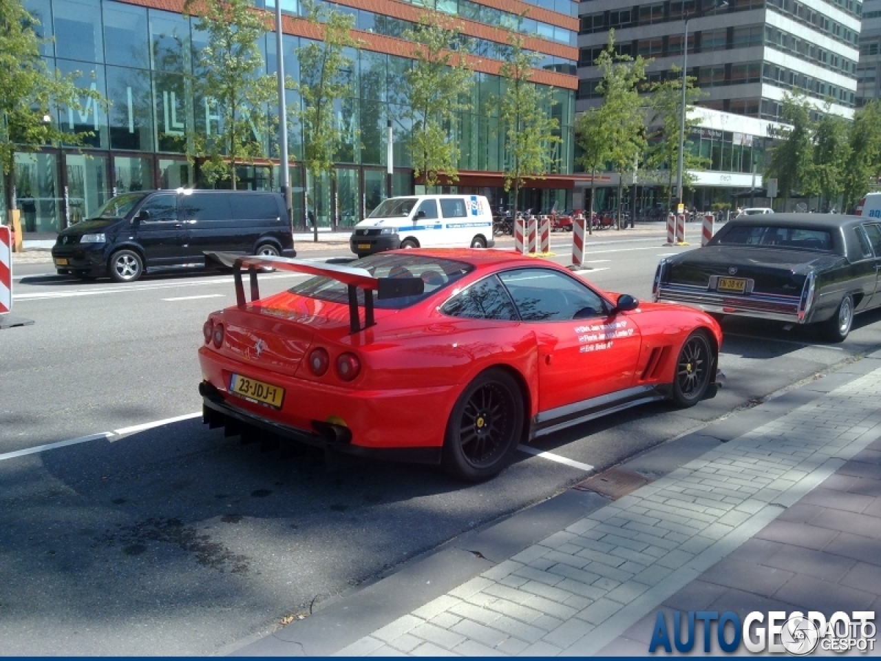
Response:
[{"label": "green tree at the dark tower's left corner, left of the lamp-post tree", "polygon": [[[622,180],[633,169],[648,145],[645,130],[645,111],[640,100],[640,86],[646,79],[646,67],[651,59],[642,56],[619,55],[615,51],[615,31],[609,31],[606,48],[596,58],[603,73],[597,90],[603,96],[603,140],[605,161],[618,173],[618,219],[621,227]],[[593,192],[591,191],[591,196]]]}]

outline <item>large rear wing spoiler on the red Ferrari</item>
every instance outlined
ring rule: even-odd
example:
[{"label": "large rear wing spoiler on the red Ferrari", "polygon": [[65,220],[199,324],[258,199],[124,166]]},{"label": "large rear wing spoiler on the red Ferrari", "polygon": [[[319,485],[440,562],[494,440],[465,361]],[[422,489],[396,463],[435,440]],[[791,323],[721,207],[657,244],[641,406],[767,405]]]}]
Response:
[{"label": "large rear wing spoiler on the red Ferrari", "polygon": [[[206,252],[205,259],[209,263],[214,262],[233,269],[235,302],[240,308],[248,305],[248,301],[245,300],[245,286],[241,278],[241,271],[243,269],[248,270],[252,303],[260,298],[260,289],[257,286],[257,273],[263,269],[306,273],[307,275],[324,276],[342,282],[349,288],[349,326],[352,333],[363,331],[376,323],[374,320],[374,292],[376,292],[377,298],[380,301],[384,301],[402,298],[403,296],[418,296],[425,291],[425,283],[421,278],[374,278],[370,271],[366,269],[353,268],[352,266],[343,266],[341,264],[307,262],[303,259],[292,259],[291,257],[234,255],[228,252]],[[361,326],[358,305],[359,289],[364,292],[363,326]]]}]

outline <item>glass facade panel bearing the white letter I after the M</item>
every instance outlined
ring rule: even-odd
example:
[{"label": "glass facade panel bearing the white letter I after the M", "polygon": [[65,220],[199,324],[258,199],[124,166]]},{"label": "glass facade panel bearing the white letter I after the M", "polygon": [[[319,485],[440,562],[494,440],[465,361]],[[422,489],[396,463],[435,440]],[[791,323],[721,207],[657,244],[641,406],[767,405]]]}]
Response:
[{"label": "glass facade panel bearing the white letter I after the M", "polygon": [[153,151],[153,101],[150,72],[107,67],[110,148]]}]

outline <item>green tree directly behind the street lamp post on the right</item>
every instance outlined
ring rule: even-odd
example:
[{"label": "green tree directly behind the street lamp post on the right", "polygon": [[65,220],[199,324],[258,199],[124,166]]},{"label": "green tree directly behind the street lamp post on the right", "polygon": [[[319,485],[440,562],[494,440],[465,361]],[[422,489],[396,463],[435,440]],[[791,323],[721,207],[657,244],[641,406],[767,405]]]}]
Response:
[{"label": "green tree directly behind the street lamp post on the right", "polygon": [[[679,162],[679,130],[682,123],[682,74],[677,66],[670,67],[670,78],[653,83],[650,87],[648,168],[660,173],[666,169],[667,208],[673,205],[674,182]],[[685,108],[693,108],[694,103],[707,94],[694,85],[695,78],[688,76],[685,81]],[[709,159],[692,152],[692,140],[688,139],[692,129],[700,124],[700,119],[685,115],[685,150],[682,153],[682,186],[691,189],[694,184],[692,170],[703,170]]]}]

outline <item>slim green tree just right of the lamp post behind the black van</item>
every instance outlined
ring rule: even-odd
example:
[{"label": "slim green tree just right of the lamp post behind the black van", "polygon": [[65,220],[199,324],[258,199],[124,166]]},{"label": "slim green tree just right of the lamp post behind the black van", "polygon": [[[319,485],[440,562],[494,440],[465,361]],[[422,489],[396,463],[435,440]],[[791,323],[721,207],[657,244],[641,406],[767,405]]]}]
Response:
[{"label": "slim green tree just right of the lamp post behind the black van", "polygon": [[[334,157],[343,144],[343,127],[334,111],[338,100],[355,95],[350,72],[352,58],[345,48],[359,45],[352,37],[355,17],[341,11],[327,10],[325,5],[306,3],[308,21],[322,33],[322,41],[312,41],[297,49],[300,58],[300,108],[292,108],[293,115],[303,127],[303,162],[313,182],[328,173],[336,173]],[[307,194],[307,207],[309,196]],[[312,223],[315,241],[318,241],[318,223]]]}]

